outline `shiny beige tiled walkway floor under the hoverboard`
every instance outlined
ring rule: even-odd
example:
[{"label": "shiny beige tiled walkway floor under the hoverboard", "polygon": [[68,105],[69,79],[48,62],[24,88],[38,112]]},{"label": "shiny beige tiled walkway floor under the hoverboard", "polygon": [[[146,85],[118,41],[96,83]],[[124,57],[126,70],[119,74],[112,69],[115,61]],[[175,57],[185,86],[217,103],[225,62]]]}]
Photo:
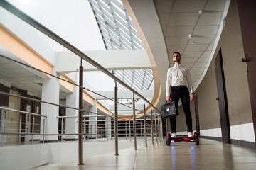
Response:
[{"label": "shiny beige tiled walkway floor under the hoverboard", "polygon": [[165,141],[145,147],[140,142],[134,147],[122,149],[119,156],[104,154],[78,162],[51,164],[33,170],[82,170],[82,169],[256,169],[256,151],[237,145],[223,144],[201,139],[200,145],[193,142],[177,142],[166,146]]}]

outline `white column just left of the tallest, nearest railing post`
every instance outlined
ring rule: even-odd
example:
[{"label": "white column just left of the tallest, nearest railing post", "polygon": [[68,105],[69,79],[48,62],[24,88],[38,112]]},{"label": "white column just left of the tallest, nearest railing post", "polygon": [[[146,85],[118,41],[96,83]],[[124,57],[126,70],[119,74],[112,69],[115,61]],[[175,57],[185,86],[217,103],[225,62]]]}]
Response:
[{"label": "white column just left of the tallest, nearest railing post", "polygon": [[[78,84],[78,73],[75,74],[75,84]],[[79,87],[73,86],[73,93],[67,94],[66,106],[79,108]],[[66,116],[78,116],[79,111],[66,108]],[[78,117],[65,118],[65,133],[78,133]],[[66,140],[78,140],[78,135],[65,135]]]}]

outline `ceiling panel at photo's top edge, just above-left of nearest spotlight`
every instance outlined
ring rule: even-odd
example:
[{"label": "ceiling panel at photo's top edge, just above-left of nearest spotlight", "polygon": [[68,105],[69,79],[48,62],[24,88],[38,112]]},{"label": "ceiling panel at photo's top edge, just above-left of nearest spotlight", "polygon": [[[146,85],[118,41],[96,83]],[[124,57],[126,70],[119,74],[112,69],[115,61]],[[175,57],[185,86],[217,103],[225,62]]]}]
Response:
[{"label": "ceiling panel at photo's top edge, just above-left of nearest spotlight", "polygon": [[198,12],[203,10],[207,0],[176,0],[173,12]]}]

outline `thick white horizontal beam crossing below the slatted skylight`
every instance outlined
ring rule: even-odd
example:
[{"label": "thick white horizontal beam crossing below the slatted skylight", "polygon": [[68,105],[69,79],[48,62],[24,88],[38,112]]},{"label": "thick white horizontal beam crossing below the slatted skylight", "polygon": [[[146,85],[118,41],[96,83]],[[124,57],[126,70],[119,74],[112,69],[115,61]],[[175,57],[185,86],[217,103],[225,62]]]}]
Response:
[{"label": "thick white horizontal beam crossing below the slatted skylight", "polygon": [[[149,61],[146,50],[100,50],[85,51],[84,53],[108,70],[154,69],[156,67]],[[55,64],[58,73],[76,72],[79,66],[80,58],[73,52],[58,52]],[[82,62],[82,66],[84,71],[98,70],[87,62]]]}]

